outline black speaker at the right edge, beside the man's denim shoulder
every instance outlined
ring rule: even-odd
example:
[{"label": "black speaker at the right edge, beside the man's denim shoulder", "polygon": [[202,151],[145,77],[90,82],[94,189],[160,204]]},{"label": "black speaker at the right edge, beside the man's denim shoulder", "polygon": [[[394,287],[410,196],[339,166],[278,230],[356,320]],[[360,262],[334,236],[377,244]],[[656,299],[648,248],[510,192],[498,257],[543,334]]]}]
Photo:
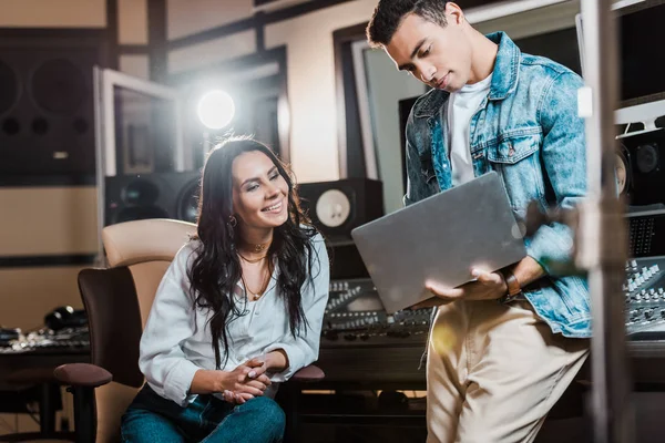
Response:
[{"label": "black speaker at the right edge, beside the man's denim shoulder", "polygon": [[620,190],[627,197],[630,205],[664,204],[665,130],[640,131],[624,135],[620,141]]}]

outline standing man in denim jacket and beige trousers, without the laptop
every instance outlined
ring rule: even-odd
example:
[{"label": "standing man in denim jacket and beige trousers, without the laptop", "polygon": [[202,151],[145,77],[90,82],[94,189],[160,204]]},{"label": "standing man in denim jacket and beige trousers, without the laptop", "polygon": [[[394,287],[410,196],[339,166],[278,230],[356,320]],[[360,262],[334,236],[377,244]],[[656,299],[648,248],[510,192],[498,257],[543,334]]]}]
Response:
[{"label": "standing man in denim jacket and beige trousers, without the laptop", "polygon": [[[407,205],[490,171],[516,217],[531,200],[571,207],[583,198],[579,75],[521,53],[505,33],[482,35],[444,0],[380,0],[367,35],[432,87],[407,123]],[[586,281],[551,268],[571,258],[571,229],[543,226],[525,245],[526,258],[473,270],[474,282],[426,284],[439,306],[428,347],[429,442],[533,441],[587,357]]]}]

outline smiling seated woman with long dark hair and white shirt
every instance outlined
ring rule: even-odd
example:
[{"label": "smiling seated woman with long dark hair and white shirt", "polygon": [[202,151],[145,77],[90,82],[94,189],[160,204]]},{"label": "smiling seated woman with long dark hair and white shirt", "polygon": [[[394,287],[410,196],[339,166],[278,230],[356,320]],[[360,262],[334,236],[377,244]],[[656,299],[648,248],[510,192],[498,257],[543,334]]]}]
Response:
[{"label": "smiling seated woman with long dark hair and white shirt", "polygon": [[125,442],[278,442],[276,387],[318,357],[328,255],[285,166],[232,138],[208,156],[197,235],[175,256],[141,338],[147,383]]}]

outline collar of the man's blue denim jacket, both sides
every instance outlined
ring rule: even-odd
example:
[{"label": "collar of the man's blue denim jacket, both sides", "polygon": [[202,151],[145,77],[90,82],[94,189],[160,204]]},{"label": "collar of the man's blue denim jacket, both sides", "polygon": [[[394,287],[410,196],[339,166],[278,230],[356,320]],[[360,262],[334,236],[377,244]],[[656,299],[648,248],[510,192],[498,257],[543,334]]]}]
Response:
[{"label": "collar of the man's blue denim jacket, both sides", "polygon": [[[489,100],[503,100],[518,87],[521,52],[505,32],[494,32],[488,34],[487,38],[499,44],[499,52],[492,71]],[[432,117],[437,115],[441,104],[449,96],[450,93],[446,91],[430,91],[423,102],[415,110],[415,116]]]}]

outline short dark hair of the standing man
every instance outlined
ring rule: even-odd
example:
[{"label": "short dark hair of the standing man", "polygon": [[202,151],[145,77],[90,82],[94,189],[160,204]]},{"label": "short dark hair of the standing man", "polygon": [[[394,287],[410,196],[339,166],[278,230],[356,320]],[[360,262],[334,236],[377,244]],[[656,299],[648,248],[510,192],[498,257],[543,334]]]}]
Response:
[{"label": "short dark hair of the standing man", "polygon": [[444,27],[446,3],[449,0],[379,0],[367,25],[367,41],[372,48],[386,47],[397,28],[410,13]]}]

